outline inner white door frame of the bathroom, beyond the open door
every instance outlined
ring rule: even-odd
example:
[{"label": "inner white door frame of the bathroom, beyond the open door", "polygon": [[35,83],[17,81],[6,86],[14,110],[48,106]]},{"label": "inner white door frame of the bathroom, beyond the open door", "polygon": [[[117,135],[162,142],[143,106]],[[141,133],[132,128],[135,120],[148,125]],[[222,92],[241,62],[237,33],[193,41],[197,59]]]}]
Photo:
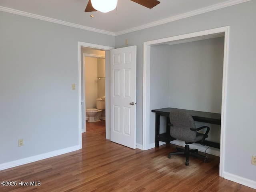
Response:
[{"label": "inner white door frame of the bathroom, beyond the open door", "polygon": [[[83,89],[84,89],[84,98],[82,98],[81,100],[81,103],[82,105],[84,106],[84,109],[86,109],[86,100],[85,100],[85,78],[84,78],[84,69],[85,69],[85,63],[84,63],[84,60],[85,60],[85,57],[92,57],[92,58],[102,58],[102,59],[105,59],[105,55],[97,55],[97,54],[89,54],[89,53],[83,53],[83,71],[81,71],[81,74],[83,74],[83,82],[84,82],[84,86],[83,86]],[[81,66],[82,66],[81,65]],[[106,65],[105,65],[106,66]],[[81,83],[81,88],[82,88],[82,83]],[[81,92],[82,93],[82,92]],[[84,117],[82,117],[82,124],[84,122],[84,128],[82,127],[82,133],[83,132],[86,132],[86,113],[84,111]],[[82,125],[81,124],[81,125]]]}]

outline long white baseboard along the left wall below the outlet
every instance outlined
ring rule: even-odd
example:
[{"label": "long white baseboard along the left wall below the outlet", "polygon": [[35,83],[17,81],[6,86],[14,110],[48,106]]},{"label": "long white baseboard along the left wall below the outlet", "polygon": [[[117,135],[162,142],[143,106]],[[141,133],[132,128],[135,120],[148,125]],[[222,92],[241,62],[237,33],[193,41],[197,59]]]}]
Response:
[{"label": "long white baseboard along the left wall below the outlet", "polygon": [[39,161],[39,160],[42,160],[42,159],[47,159],[47,158],[54,157],[54,156],[57,156],[57,155],[62,155],[62,154],[69,153],[69,152],[72,152],[72,151],[76,151],[76,150],[79,150],[79,149],[80,149],[80,146],[76,145],[76,146],[73,146],[73,147],[68,147],[68,148],[64,148],[64,149],[60,149],[60,150],[56,150],[56,151],[52,151],[52,152],[48,152],[48,153],[44,153],[44,154],[39,154],[39,155],[35,155],[35,156],[32,156],[32,157],[27,157],[27,158],[15,160],[15,161],[7,162],[7,163],[2,163],[2,164],[0,164],[0,170],[4,170],[4,169],[24,165],[24,164],[27,164],[27,163],[32,163],[32,162],[35,162],[35,161]]}]

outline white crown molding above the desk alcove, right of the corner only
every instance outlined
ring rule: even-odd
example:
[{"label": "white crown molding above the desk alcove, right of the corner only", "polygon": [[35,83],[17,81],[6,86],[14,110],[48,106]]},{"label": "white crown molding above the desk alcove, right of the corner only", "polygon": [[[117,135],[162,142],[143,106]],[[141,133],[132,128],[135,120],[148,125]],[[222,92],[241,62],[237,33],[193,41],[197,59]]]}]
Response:
[{"label": "white crown molding above the desk alcove, right of the corner only", "polygon": [[177,16],[173,16],[173,17],[170,17],[170,18],[163,19],[163,20],[159,20],[159,21],[152,22],[152,23],[149,23],[149,24],[145,24],[145,25],[142,25],[142,26],[130,28],[128,30],[123,30],[123,31],[120,31],[120,32],[116,32],[115,36],[123,35],[123,34],[126,34],[126,33],[134,32],[134,31],[138,31],[138,30],[142,30],[142,29],[146,29],[146,28],[150,28],[150,27],[154,27],[154,26],[158,26],[158,25],[161,25],[161,24],[165,24],[165,23],[169,23],[169,22],[172,22],[172,21],[176,21],[176,20],[187,18],[187,17],[195,16],[195,15],[198,15],[198,14],[214,11],[214,10],[217,10],[217,9],[225,8],[225,7],[228,7],[228,6],[240,4],[240,3],[243,3],[243,2],[247,2],[247,1],[250,1],[250,0],[230,0],[230,1],[227,1],[227,2],[224,2],[224,3],[216,4],[216,5],[213,5],[213,6],[208,6],[208,7],[202,8],[202,9],[194,10],[194,11],[191,11],[191,12],[187,12],[187,13],[184,13],[184,14],[180,14],[180,15],[177,15]]}]

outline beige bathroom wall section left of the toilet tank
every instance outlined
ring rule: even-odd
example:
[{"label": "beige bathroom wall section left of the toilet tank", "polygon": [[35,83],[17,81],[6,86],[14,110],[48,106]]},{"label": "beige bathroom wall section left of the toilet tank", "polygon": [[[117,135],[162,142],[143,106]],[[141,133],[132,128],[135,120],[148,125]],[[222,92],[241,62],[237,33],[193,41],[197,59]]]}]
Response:
[{"label": "beige bathroom wall section left of the toilet tank", "polygon": [[86,109],[96,108],[96,98],[98,98],[98,59],[85,57],[84,59],[84,79],[85,79],[85,105]]}]

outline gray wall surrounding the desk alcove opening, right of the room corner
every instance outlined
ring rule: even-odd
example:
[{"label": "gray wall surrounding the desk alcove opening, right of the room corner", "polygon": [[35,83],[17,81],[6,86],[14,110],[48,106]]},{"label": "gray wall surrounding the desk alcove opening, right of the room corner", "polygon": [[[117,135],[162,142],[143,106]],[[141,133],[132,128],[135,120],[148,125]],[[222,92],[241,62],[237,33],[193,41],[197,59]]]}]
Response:
[{"label": "gray wall surrounding the desk alcove opening, right of the room corner", "polygon": [[[189,18],[116,36],[116,48],[137,46],[137,143],[142,144],[143,42],[230,26],[224,171],[256,181],[256,1],[214,10]],[[242,166],[238,166],[242,165]]]}]

